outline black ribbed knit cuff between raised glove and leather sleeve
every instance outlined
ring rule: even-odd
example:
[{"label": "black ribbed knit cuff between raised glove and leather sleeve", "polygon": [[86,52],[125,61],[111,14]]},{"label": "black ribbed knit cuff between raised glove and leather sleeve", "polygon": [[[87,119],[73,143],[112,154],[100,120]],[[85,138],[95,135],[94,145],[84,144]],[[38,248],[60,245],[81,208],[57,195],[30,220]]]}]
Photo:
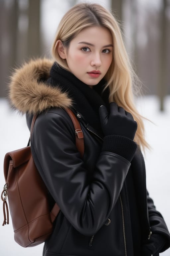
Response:
[{"label": "black ribbed knit cuff between raised glove and leather sleeve", "polygon": [[126,158],[129,162],[133,159],[137,144],[124,136],[108,135],[104,137],[102,151],[109,151]]}]

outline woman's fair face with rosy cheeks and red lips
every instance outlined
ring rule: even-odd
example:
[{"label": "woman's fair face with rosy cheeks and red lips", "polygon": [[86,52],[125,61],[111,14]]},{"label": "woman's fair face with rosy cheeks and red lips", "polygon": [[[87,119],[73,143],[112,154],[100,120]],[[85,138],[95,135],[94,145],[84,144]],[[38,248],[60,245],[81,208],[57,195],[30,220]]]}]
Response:
[{"label": "woman's fair face with rosy cheeks and red lips", "polygon": [[106,75],[113,59],[113,39],[104,27],[89,27],[74,37],[64,58],[69,70],[92,87]]}]

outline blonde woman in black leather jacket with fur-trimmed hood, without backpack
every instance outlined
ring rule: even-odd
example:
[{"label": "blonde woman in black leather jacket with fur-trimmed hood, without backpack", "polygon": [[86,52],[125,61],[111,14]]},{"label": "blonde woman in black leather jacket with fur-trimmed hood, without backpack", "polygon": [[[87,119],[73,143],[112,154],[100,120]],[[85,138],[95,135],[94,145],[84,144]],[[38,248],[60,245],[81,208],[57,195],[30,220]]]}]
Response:
[{"label": "blonde woman in black leather jacket with fur-trimmed hood, without backpack", "polygon": [[[52,54],[54,63],[17,70],[10,86],[29,128],[39,114],[32,154],[61,209],[43,255],[158,256],[170,234],[146,190],[140,148],[148,145],[117,21],[98,4],[75,5],[58,26]],[[82,158],[65,108],[81,124]]]}]

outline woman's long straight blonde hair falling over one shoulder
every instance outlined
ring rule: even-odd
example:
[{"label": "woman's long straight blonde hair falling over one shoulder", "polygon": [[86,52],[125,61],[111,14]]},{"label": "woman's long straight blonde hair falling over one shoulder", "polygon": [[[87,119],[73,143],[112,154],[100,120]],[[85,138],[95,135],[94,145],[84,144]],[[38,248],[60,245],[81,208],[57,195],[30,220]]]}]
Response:
[{"label": "woman's long straight blonde hair falling over one shoulder", "polygon": [[105,76],[106,88],[109,87],[109,102],[116,102],[133,115],[137,122],[134,141],[142,147],[149,148],[144,139],[143,118],[134,106],[132,85],[137,77],[131,67],[128,54],[123,42],[120,26],[110,11],[99,4],[79,3],[73,6],[61,19],[52,45],[52,56],[64,69],[68,70],[65,59],[57,51],[57,40],[61,40],[64,47],[69,47],[70,41],[83,29],[100,26],[109,29],[113,37],[113,62]]}]

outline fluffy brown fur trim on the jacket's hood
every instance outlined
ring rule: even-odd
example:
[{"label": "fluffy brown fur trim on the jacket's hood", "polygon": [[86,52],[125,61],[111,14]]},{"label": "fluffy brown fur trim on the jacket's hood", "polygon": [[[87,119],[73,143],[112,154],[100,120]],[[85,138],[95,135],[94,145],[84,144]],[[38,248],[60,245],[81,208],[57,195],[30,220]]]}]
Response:
[{"label": "fluffy brown fur trim on the jacket's hood", "polygon": [[37,59],[24,63],[15,69],[9,84],[11,106],[20,113],[38,114],[51,107],[68,108],[72,106],[67,93],[53,88],[39,80],[48,79],[52,60]]}]

